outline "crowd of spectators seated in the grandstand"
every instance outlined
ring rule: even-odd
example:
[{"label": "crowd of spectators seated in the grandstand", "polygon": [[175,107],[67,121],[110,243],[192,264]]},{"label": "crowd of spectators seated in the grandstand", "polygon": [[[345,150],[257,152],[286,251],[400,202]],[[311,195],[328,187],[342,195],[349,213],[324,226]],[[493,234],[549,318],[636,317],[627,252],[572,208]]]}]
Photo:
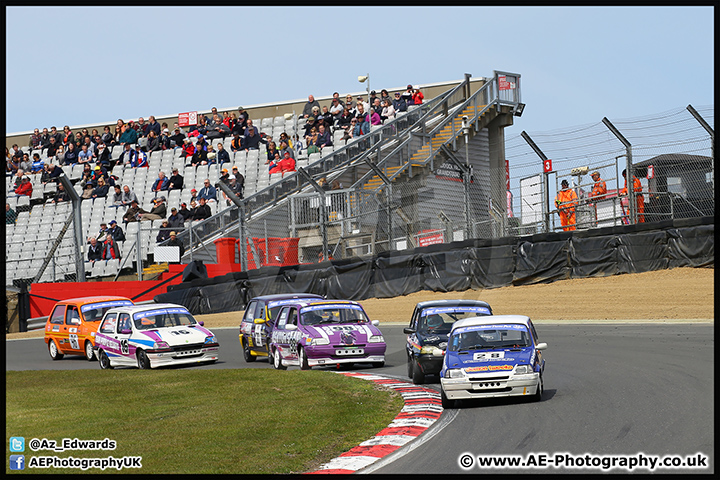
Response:
[{"label": "crowd of spectators seated in the grandstand", "polygon": [[[213,107],[209,115],[198,115],[198,124],[188,127],[187,131],[177,122],[170,129],[167,123],[160,124],[152,115],[147,121],[143,117],[127,123],[118,119],[114,129],[105,126],[102,133],[95,128],[82,128],[73,132],[67,125],[62,132],[55,126],[49,130],[43,128],[42,132],[36,128],[27,145],[32,158],[31,153],[23,151],[17,144],[11,149],[6,148],[6,176],[11,177],[7,195],[31,196],[33,184],[29,174],[39,174],[39,182],[43,185],[51,182],[57,184],[54,196],[46,201],[67,202],[70,197],[59,177],[64,173],[63,167],[69,169],[81,164],[83,172],[79,182],[82,199],[112,197],[112,205],[122,207],[124,211],[122,215],[118,213],[118,219],[121,218],[125,225],[136,221],[165,220],[157,237],[160,242],[169,238],[170,231],[177,233],[190,222],[210,217],[208,203],[224,199],[227,205],[231,205],[230,199],[225,193],[218,192],[209,179],[205,179],[200,191],[192,189],[190,201],[173,206],[168,216],[164,193],[185,187],[183,176],[174,168],[170,175],[169,172],[159,172],[151,187],[155,195],[153,207],[146,211],[138,205],[137,196],[130,186],[116,183],[119,178],[112,175],[116,165],[144,168],[149,166],[152,152],[181,150],[180,156],[185,159],[186,166],[219,165],[222,171],[220,181],[242,198],[244,177],[238,167],[232,167],[231,172],[223,168],[225,163],[231,163],[231,152],[260,150],[260,144],[264,144],[263,150],[267,156],[262,160],[268,174],[293,172],[298,155],[303,151],[311,154],[332,146],[336,132],[342,133],[343,140],[357,138],[367,134],[372,125],[390,121],[398,112],[407,111],[408,106],[422,104],[422,101],[423,94],[412,85],[408,85],[406,91],[395,92],[393,97],[385,89],[380,92],[380,96],[372,91],[367,102],[362,95],[355,99],[347,95],[343,100],[336,92],[329,105],[321,106],[310,95],[300,114],[304,121],[303,130],[292,136],[283,132],[277,139],[261,133],[243,107],[239,107],[237,113],[222,114]],[[227,137],[232,138],[231,152],[225,149],[224,141]],[[122,153],[119,156],[111,155],[110,150],[118,145],[123,149]],[[42,157],[38,151],[43,152]],[[34,176],[37,182],[37,175]],[[14,222],[14,219],[15,212],[8,204],[6,222]],[[111,223],[115,224],[114,229],[119,229],[113,232],[122,233],[115,221]],[[88,244],[92,247],[89,255],[93,258],[88,260],[118,258],[118,241],[124,241],[124,237],[119,239],[116,234],[103,231],[91,236]]]}]

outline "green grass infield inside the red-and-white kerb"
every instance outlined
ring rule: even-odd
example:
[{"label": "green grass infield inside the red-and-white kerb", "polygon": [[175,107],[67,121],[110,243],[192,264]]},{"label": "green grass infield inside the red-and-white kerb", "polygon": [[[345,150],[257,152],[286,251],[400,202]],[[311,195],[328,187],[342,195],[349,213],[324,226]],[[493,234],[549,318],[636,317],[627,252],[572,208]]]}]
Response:
[{"label": "green grass infield inside the red-and-white kerb", "polygon": [[6,442],[117,442],[113,451],[33,452],[26,445],[26,465],[39,455],[141,456],[142,469],[121,473],[169,474],[312,471],[385,428],[403,404],[372,382],[267,369],[6,372],[5,399]]}]

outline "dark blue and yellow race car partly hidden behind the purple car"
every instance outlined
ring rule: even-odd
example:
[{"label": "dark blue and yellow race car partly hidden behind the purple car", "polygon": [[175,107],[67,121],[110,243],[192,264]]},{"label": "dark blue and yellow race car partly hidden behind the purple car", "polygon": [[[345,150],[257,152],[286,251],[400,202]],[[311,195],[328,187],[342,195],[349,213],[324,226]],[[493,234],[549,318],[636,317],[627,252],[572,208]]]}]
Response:
[{"label": "dark blue and yellow race car partly hidden behind the purple car", "polygon": [[323,297],[314,293],[282,293],[261,295],[248,302],[240,322],[240,334],[238,335],[246,362],[254,362],[257,357],[268,355],[267,347],[277,313],[283,305],[301,299],[322,300]]}]

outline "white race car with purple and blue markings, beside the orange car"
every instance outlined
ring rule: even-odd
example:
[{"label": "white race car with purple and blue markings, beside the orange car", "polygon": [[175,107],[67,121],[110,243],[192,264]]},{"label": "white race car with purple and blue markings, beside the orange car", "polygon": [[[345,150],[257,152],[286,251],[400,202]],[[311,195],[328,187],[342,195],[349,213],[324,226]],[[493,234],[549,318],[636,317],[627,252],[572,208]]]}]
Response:
[{"label": "white race car with purple and blue markings, beside the orange car", "polygon": [[95,335],[100,368],[213,363],[220,345],[182,305],[171,303],[112,308]]}]

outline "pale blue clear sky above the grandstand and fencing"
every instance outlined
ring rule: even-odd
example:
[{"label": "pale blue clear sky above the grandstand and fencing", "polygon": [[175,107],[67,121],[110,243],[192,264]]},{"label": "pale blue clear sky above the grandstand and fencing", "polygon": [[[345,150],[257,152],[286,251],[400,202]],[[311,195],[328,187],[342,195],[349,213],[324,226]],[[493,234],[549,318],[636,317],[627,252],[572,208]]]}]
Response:
[{"label": "pale blue clear sky above the grandstand and fencing", "polygon": [[714,9],[6,7],[6,133],[520,75],[547,132],[714,104]]}]

